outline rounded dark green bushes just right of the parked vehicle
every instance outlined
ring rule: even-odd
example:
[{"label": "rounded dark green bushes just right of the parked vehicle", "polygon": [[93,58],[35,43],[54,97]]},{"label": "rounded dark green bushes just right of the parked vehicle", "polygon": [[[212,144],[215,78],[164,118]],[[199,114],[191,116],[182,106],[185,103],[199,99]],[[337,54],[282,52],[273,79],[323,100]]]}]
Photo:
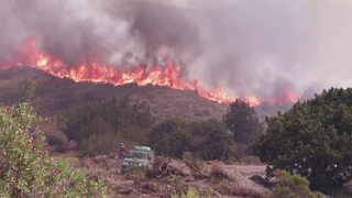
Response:
[{"label": "rounded dark green bushes just right of the parked vehicle", "polygon": [[229,160],[234,150],[232,134],[215,120],[191,123],[165,120],[153,128],[150,144],[158,154],[178,158],[190,152],[204,160]]}]

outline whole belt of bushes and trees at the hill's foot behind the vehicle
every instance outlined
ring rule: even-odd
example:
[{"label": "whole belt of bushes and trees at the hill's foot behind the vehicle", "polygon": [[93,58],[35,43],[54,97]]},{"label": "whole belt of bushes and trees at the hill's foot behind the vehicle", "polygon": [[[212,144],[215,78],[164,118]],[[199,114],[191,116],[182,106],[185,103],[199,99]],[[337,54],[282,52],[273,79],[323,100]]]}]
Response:
[{"label": "whole belt of bushes and trees at the hill's foot behind the vehicle", "polygon": [[260,127],[254,109],[241,100],[231,105],[224,121],[234,132],[217,120],[167,119],[155,122],[145,103],[111,98],[68,114],[66,134],[77,142],[84,155],[116,152],[119,143],[124,142],[152,145],[164,156],[180,158],[185,152],[190,152],[202,160],[228,161],[238,154],[235,141],[251,145]]}]

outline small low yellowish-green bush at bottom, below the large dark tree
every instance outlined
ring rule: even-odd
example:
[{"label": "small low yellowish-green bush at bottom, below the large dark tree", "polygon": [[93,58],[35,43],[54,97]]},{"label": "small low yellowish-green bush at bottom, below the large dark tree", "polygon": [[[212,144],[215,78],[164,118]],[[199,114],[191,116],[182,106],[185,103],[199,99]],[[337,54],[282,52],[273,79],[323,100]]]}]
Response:
[{"label": "small low yellowish-green bush at bottom, below the large dark tree", "polygon": [[290,175],[282,172],[278,183],[273,189],[274,198],[322,198],[322,194],[312,193],[309,189],[309,182],[300,175]]}]

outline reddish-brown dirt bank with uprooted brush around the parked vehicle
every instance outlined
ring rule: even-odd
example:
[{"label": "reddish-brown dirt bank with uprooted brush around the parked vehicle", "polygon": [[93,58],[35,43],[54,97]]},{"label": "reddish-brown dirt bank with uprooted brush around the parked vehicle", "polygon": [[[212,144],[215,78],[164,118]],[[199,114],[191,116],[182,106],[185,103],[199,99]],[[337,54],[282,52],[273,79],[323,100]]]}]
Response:
[{"label": "reddish-brown dirt bank with uprooted brush around the parked vehicle", "polygon": [[[82,158],[74,164],[89,176],[101,177],[108,197],[172,197],[191,189],[200,197],[264,197],[271,190],[260,183],[264,165],[226,165],[221,162],[156,158],[153,170],[121,173],[114,155]],[[262,178],[262,179],[253,179]]]}]

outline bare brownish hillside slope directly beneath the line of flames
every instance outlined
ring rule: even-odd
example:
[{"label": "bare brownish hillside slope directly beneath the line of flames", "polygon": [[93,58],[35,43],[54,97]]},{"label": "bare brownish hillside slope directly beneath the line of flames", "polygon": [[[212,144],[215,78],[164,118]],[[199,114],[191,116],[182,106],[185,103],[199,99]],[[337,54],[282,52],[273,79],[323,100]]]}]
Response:
[{"label": "bare brownish hillside slope directly beneath the line of flames", "polygon": [[45,117],[59,116],[81,105],[110,97],[130,97],[147,102],[156,119],[184,118],[187,120],[221,119],[227,110],[204,99],[195,91],[182,91],[168,87],[135,84],[113,87],[111,85],[75,82],[61,79],[42,70],[18,67],[0,70],[0,102],[11,105],[19,101],[28,79],[36,82],[33,105]]}]

